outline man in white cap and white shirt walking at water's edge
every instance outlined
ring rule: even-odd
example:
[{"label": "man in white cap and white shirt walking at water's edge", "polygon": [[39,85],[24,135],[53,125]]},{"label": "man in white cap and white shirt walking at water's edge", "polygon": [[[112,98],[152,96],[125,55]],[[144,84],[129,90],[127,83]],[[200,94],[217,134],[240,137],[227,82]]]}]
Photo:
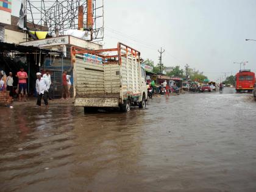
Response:
[{"label": "man in white cap and white shirt walking at water's edge", "polygon": [[50,85],[45,79],[41,77],[41,73],[37,73],[37,81],[35,88],[37,89],[37,105],[41,106],[41,99],[43,98],[44,104],[48,107],[48,90]]}]

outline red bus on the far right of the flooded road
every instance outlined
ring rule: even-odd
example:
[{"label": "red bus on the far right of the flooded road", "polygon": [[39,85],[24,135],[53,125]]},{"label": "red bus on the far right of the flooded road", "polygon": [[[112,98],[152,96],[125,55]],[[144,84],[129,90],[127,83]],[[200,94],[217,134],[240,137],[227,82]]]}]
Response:
[{"label": "red bus on the far right of the flooded road", "polygon": [[252,90],[254,90],[255,73],[251,72],[251,70],[240,70],[236,73],[235,80],[235,89],[237,92],[248,91],[252,93]]}]

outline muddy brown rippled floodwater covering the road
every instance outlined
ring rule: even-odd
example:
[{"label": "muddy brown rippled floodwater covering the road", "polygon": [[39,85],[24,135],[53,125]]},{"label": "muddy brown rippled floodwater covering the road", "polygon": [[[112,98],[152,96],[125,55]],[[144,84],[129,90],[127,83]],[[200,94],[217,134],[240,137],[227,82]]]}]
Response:
[{"label": "muddy brown rippled floodwater covering the road", "polygon": [[256,191],[255,116],[232,88],[127,114],[1,108],[0,191]]}]

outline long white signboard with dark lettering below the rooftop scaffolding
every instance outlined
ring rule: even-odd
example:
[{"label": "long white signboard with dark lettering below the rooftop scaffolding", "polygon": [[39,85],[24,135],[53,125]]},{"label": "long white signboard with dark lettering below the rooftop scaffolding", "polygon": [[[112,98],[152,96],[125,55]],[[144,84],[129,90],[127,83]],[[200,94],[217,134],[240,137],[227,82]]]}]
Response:
[{"label": "long white signboard with dark lettering below the rooftop scaffolding", "polygon": [[34,46],[34,47],[48,47],[48,46],[56,46],[60,44],[68,44],[68,36],[62,36],[62,37],[54,37],[54,38],[45,38],[43,40],[35,40],[35,41],[28,41],[24,43],[20,43],[24,46]]}]

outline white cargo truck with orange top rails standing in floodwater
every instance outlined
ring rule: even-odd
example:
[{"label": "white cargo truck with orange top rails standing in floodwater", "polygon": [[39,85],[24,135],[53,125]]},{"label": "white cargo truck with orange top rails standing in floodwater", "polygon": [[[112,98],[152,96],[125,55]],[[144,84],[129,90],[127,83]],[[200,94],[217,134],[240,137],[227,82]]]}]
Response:
[{"label": "white cargo truck with orange top rails standing in floodwater", "polygon": [[146,107],[146,74],[140,52],[118,43],[114,49],[86,50],[71,47],[74,74],[74,105],[88,110],[119,107],[129,112],[131,105]]}]

